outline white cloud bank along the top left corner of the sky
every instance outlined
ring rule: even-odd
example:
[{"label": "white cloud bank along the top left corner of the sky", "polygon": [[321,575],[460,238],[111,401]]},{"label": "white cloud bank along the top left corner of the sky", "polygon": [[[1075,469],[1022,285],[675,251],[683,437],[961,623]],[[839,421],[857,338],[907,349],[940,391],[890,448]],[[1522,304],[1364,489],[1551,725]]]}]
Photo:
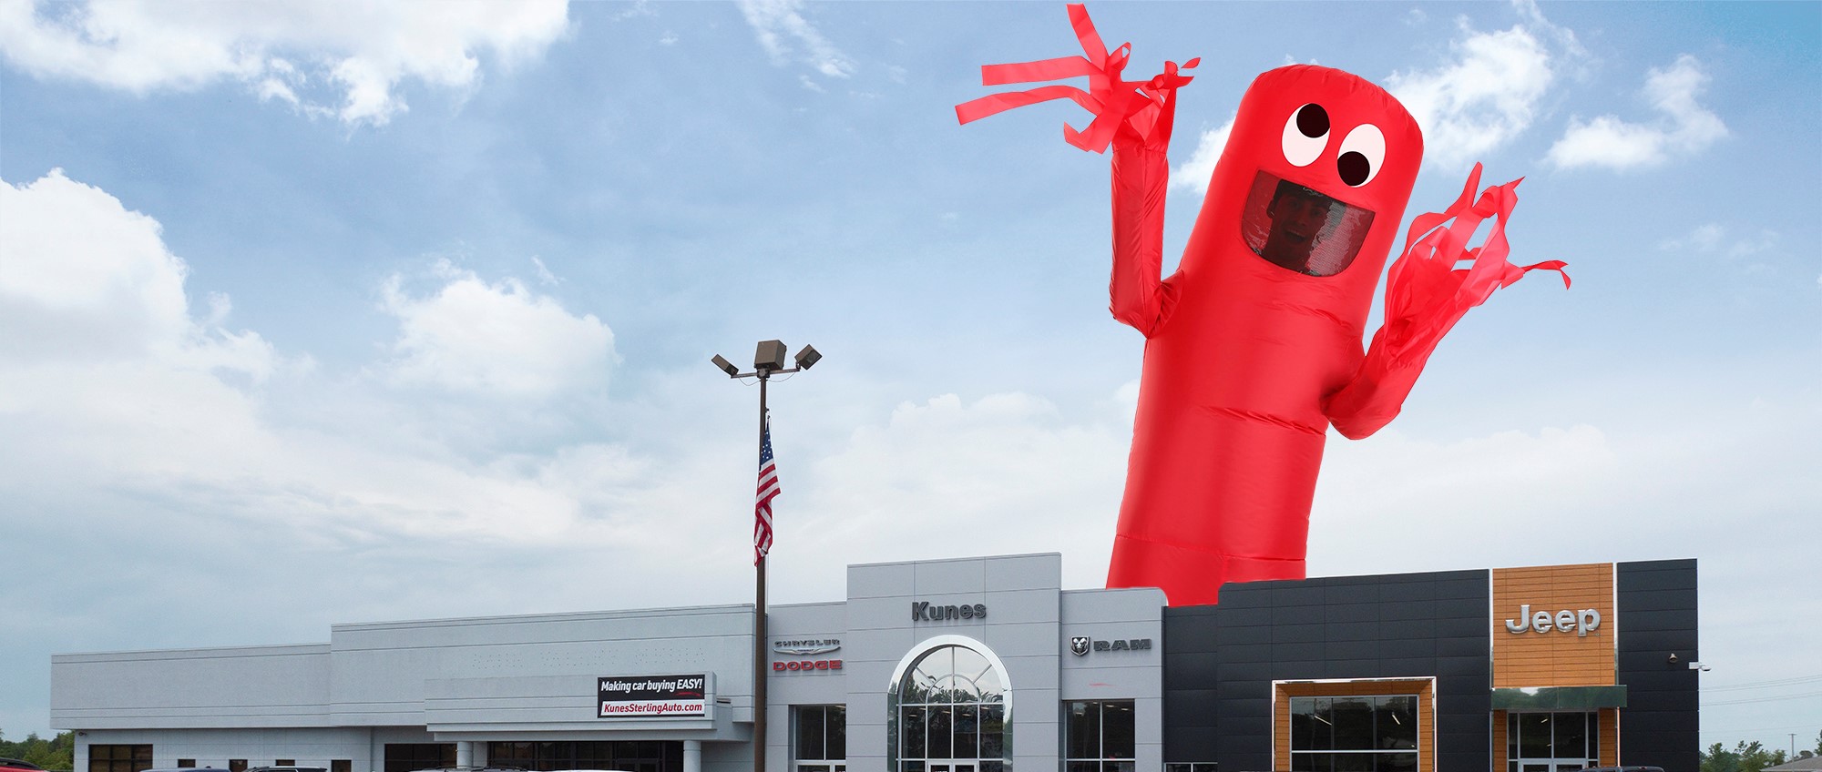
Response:
[{"label": "white cloud bank along the top left corner of the sky", "polygon": [[[466,89],[477,51],[507,66],[536,56],[568,24],[565,0],[523,2],[80,2],[0,4],[0,53],[40,78],[131,93],[241,80],[261,98],[348,124],[406,109],[403,80]],[[299,91],[326,91],[326,104]]]}]

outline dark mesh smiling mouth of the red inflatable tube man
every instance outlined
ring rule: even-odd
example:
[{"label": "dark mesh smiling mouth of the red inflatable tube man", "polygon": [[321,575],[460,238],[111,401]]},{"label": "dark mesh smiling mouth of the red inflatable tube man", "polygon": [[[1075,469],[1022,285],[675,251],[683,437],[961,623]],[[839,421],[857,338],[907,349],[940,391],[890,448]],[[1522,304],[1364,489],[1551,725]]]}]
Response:
[{"label": "dark mesh smiling mouth of the red inflatable tube man", "polygon": [[1332,277],[1354,264],[1372,211],[1261,171],[1241,209],[1246,248],[1279,268]]}]

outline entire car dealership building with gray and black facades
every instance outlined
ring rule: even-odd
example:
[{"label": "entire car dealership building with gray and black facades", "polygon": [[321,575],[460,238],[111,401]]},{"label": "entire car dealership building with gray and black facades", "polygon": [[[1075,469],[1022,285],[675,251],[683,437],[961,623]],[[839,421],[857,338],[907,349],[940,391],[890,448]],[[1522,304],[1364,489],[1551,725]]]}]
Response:
[{"label": "entire car dealership building with gray and black facades", "polygon": [[[62,654],[77,770],[752,767],[752,606],[335,625]],[[769,610],[767,768],[1694,770],[1696,563],[1064,590],[1062,557],[858,564]]]}]

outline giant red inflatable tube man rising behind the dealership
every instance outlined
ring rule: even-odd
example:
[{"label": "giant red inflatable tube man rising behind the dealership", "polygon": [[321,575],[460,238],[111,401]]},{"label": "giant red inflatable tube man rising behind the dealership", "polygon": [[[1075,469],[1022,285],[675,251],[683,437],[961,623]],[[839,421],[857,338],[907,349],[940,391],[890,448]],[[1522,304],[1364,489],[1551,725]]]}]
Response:
[{"label": "giant red inflatable tube man rising behind the dealership", "polygon": [[[982,80],[1086,75],[1088,91],[991,95],[957,117],[1073,98],[1095,120],[1066,126],[1066,140],[1113,147],[1111,311],[1146,350],[1108,586],[1159,586],[1172,604],[1201,604],[1228,581],[1303,579],[1328,426],[1350,439],[1377,432],[1469,308],[1563,264],[1505,260],[1518,180],[1476,200],[1476,166],[1459,200],[1412,222],[1387,280],[1385,326],[1363,353],[1423,135],[1385,89],[1290,66],[1246,89],[1177,273],[1161,280],[1164,149],[1190,78],[1166,62],[1152,80],[1121,80],[1130,46],[1108,53],[1080,5],[1070,18],[1086,56],[988,66]],[[1487,218],[1483,246],[1469,248]]]}]

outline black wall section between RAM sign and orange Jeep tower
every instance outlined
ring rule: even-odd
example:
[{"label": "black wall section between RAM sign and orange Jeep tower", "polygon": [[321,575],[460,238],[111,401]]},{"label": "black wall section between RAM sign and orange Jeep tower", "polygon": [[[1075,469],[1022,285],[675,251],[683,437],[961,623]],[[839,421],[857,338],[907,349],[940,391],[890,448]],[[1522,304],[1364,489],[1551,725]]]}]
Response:
[{"label": "black wall section between RAM sign and orange Jeep tower", "polygon": [[1487,768],[1490,601],[1469,570],[1226,584],[1219,606],[1166,608],[1164,761],[1272,768],[1272,681],[1436,677],[1439,768]]}]

